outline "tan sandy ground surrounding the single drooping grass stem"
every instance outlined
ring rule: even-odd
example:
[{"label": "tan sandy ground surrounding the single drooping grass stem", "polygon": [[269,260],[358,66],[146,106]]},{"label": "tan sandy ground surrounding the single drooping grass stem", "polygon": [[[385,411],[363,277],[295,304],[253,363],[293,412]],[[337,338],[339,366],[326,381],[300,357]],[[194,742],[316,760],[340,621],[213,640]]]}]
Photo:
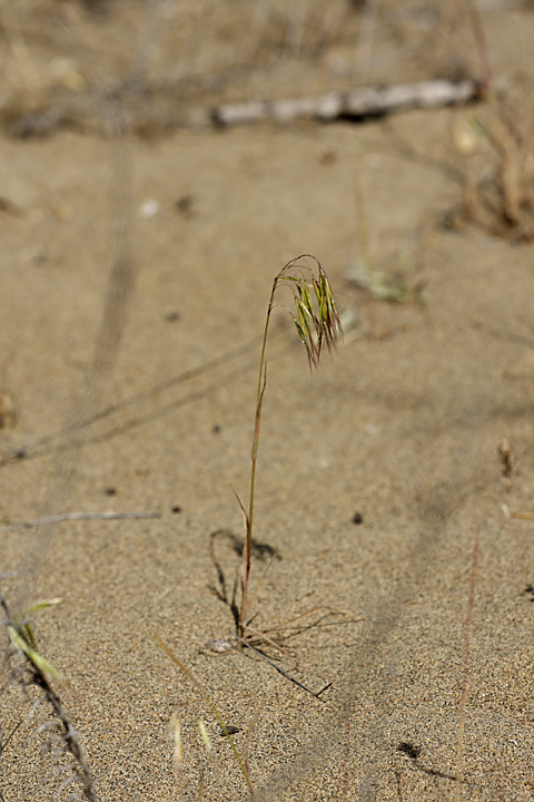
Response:
[{"label": "tan sandy ground surrounding the single drooping grass stem", "polygon": [[[160,42],[145,48],[156,78],[188,67],[217,76],[236,42],[245,42],[245,61],[247,48],[257,53],[245,78],[236,70],[221,87],[191,80],[178,96],[184,106],[348,85],[358,10],[310,61],[312,17],[301,50],[290,40],[289,55],[274,58],[279,18],[247,39],[253,6],[228,0],[208,13],[182,3],[154,30],[137,4],[26,9],[23,25],[3,21],[4,98],[23,109],[44,102],[32,70],[41,84],[53,70],[76,84],[80,65],[126,75],[146,30]],[[532,89],[532,11],[484,9],[495,75],[511,85],[521,76]],[[453,41],[432,13],[431,3],[383,4],[367,82],[476,69],[462,14]],[[57,42],[66,31],[79,45],[68,57]],[[254,49],[261,37],[265,52]],[[181,60],[170,57],[178,45]],[[155,634],[238,728],[258,799],[454,799],[477,532],[458,799],[534,798],[534,528],[503,511],[534,512],[533,257],[531,245],[487,227],[442,224],[461,199],[452,170],[466,175],[473,164],[451,133],[475,113],[488,109],[360,126],[150,131],[115,144],[83,126],[2,137],[0,524],[62,511],[160,514],[0,540],[2,571],[23,571],[2,585],[13,605],[28,588],[32,598],[63,599],[38,614],[39,648],[63,677],[59,692],[102,802],[248,798],[207,704]],[[485,157],[482,147],[473,158]],[[373,300],[347,280],[364,255],[362,229],[374,267],[394,281],[404,266],[407,302]],[[120,343],[112,335],[121,307],[107,290],[113,248],[131,252],[136,266]],[[253,653],[206,648],[234,626],[220,598],[243,540],[230,482],[247,497],[258,338],[273,277],[300,253],[322,261],[340,312],[358,321],[310,375],[287,313],[275,314],[255,532],[267,548],[254,579],[269,550],[277,558],[254,626],[315,610],[294,622],[303,630],[291,630],[281,656],[266,652],[312,689],[330,684],[320,700]],[[111,340],[102,344],[106,301]],[[95,352],[100,368],[112,361],[108,373],[91,369]],[[101,410],[81,432],[51,437],[72,415]],[[12,459],[21,449],[26,458]],[[6,801],[67,799],[72,786],[60,791],[40,756],[49,711],[41,704],[28,718],[34,689],[24,696],[4,678],[3,740],[21,722],[1,754]],[[168,734],[175,710],[179,781]]]}]

